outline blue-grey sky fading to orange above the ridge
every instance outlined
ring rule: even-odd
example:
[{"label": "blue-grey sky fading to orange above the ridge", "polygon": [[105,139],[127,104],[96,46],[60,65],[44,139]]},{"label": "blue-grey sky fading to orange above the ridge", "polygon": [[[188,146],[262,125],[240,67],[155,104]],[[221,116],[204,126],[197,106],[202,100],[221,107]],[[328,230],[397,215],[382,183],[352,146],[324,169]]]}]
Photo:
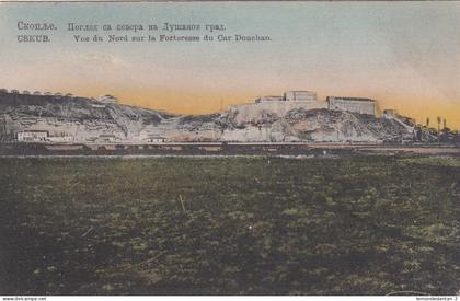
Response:
[{"label": "blue-grey sky fading to orange above the ridge", "polygon": [[[50,43],[18,43],[18,35],[44,33],[19,31],[20,21],[58,31],[48,33]],[[73,35],[94,33],[67,31],[68,23],[157,24],[139,35],[159,36],[164,22],[223,24],[227,36],[271,40],[76,43]],[[430,117],[432,125],[441,116],[460,129],[458,28],[460,2],[0,2],[0,86],[113,94],[181,114],[309,90],[320,100],[371,97],[381,109],[419,123]]]}]

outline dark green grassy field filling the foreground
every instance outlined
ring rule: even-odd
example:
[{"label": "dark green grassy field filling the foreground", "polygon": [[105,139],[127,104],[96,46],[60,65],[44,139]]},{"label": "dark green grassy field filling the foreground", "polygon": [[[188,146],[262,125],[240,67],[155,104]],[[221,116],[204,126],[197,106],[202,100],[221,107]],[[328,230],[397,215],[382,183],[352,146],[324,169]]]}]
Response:
[{"label": "dark green grassy field filling the foreground", "polygon": [[460,289],[460,161],[0,159],[0,294]]}]

